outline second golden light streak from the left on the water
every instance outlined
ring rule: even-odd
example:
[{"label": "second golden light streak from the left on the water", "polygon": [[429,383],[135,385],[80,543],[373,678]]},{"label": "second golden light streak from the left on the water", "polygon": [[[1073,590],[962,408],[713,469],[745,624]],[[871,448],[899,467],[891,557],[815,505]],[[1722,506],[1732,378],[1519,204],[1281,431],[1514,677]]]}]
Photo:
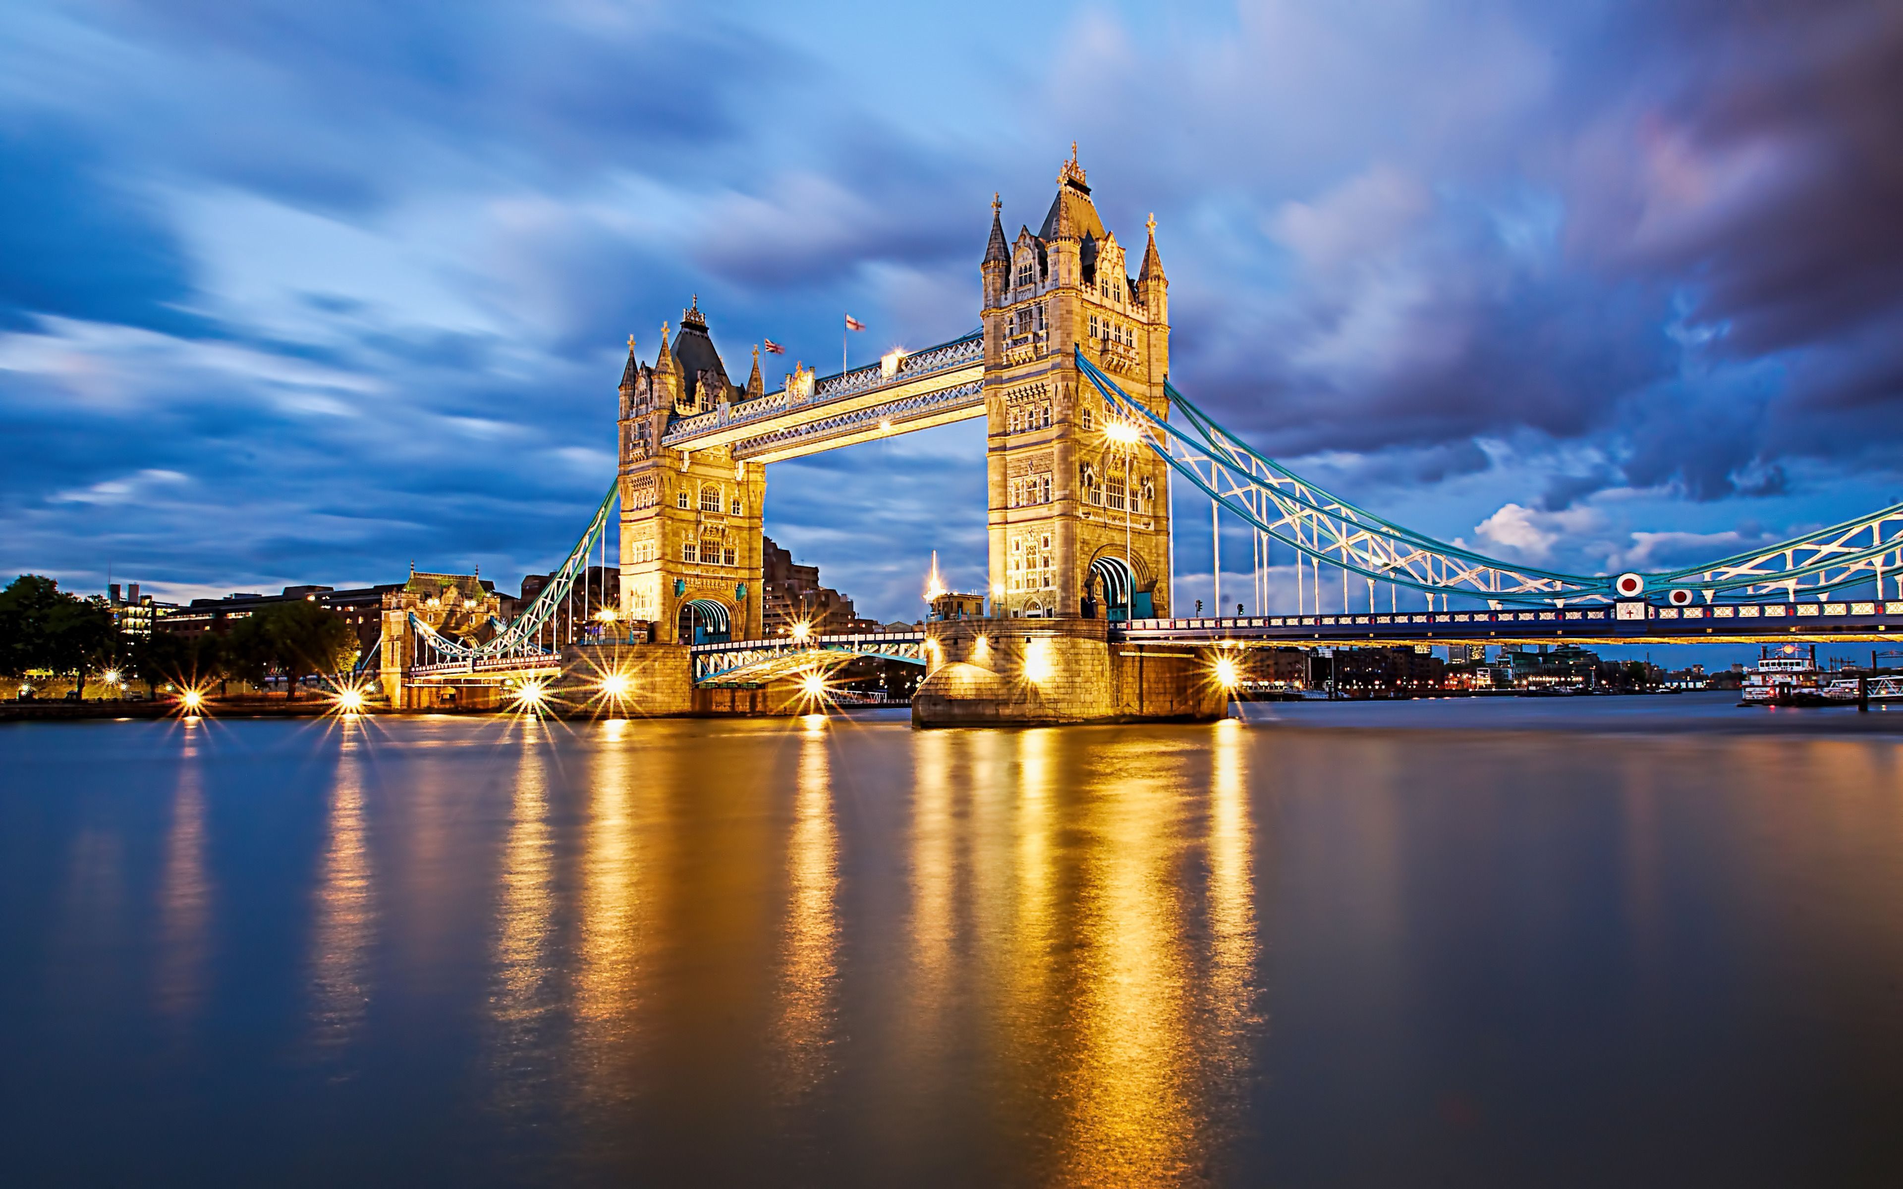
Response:
[{"label": "second golden light streak from the left on the water", "polygon": [[[377,928],[363,822],[363,729],[343,725],[331,778],[329,841],[310,930],[310,1044],[335,1058],[356,1041],[369,1010],[369,951]],[[348,1073],[339,1073],[348,1077]]]}]

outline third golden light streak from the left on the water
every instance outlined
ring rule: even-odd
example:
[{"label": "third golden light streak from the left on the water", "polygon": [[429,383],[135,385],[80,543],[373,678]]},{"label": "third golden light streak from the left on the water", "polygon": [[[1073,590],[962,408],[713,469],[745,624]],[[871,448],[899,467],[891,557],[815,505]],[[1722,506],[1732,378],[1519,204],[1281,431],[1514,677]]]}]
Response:
[{"label": "third golden light streak from the left on the water", "polygon": [[554,858],[548,831],[550,761],[544,753],[550,746],[539,732],[521,732],[508,839],[502,843],[489,1003],[499,1107],[512,1119],[525,1119],[539,1105],[533,1094],[548,1058],[540,1033],[554,1008],[548,951]]}]

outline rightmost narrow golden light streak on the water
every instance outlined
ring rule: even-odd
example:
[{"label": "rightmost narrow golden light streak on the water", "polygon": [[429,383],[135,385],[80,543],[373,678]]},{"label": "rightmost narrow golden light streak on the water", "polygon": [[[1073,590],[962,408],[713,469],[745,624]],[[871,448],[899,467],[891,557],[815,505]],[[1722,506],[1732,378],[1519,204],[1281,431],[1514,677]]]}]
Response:
[{"label": "rightmost narrow golden light streak on the water", "polygon": [[1214,727],[1208,788],[1208,1014],[1210,1058],[1231,1075],[1248,1060],[1256,972],[1254,829],[1248,818],[1248,734],[1235,719]]}]

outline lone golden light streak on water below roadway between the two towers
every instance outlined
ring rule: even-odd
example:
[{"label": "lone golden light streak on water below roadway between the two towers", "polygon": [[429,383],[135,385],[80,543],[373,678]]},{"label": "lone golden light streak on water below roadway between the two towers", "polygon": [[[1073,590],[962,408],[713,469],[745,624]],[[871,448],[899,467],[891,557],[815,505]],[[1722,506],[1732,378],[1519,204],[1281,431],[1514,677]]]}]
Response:
[{"label": "lone golden light streak on water below roadway between the two towers", "polygon": [[786,942],[775,1046],[784,1067],[782,1094],[805,1098],[830,1067],[834,991],[839,974],[839,837],[832,810],[826,719],[809,719],[799,740],[794,833],[786,852]]}]

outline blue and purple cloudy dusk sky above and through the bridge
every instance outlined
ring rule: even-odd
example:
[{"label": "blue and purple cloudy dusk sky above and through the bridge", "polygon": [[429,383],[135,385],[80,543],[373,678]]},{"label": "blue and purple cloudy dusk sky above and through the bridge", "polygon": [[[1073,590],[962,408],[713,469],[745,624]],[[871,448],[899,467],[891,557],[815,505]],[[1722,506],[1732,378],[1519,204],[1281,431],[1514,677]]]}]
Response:
[{"label": "blue and purple cloudy dusk sky above and through the bridge", "polygon": [[[1157,215],[1176,384],[1364,506],[1614,571],[1903,498],[1893,4],[17,0],[0,571],[514,588],[630,333],[963,333],[991,192],[1037,223],[1071,141]],[[980,430],[776,464],[767,519],[910,618],[929,550],[982,582]]]}]

